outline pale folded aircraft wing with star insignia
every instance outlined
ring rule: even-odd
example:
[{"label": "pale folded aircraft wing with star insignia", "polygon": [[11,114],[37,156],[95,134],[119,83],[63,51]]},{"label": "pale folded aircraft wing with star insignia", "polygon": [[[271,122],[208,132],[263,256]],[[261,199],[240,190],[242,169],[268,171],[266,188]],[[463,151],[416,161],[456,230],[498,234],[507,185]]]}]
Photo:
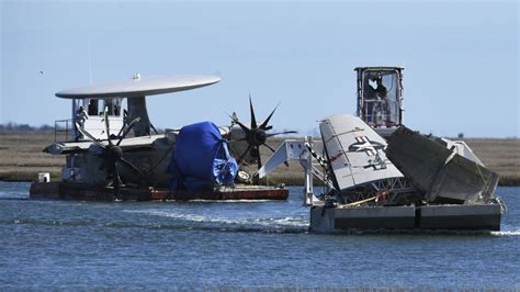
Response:
[{"label": "pale folded aircraft wing with star insignia", "polygon": [[386,158],[386,142],[359,117],[338,114],[319,124],[327,158],[339,190],[402,178]]}]

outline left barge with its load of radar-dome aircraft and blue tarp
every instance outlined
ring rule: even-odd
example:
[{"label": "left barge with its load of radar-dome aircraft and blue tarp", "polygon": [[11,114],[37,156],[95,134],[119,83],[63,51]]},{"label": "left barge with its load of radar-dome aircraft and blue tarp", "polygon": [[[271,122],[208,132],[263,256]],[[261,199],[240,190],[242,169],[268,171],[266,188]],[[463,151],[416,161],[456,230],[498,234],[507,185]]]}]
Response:
[{"label": "left barge with its load of radar-dome aircraft and blue tarp", "polygon": [[[33,183],[30,198],[285,200],[289,190],[251,183],[250,176],[240,169],[242,160],[252,159],[250,151],[258,151],[270,136],[265,131],[272,127],[268,125],[272,113],[260,126],[255,121],[251,128],[236,116],[231,126],[201,122],[165,133],[151,124],[146,97],[219,80],[214,76],[142,78],[136,74],[131,80],[57,92],[56,97],[71,100],[71,119],[56,122],[55,143],[44,151],[65,155],[66,165],[60,181]],[[252,104],[251,114],[255,117]],[[251,133],[262,134],[261,139]],[[60,135],[64,141],[58,141]],[[245,144],[247,151],[237,161],[228,144],[237,148]],[[259,157],[258,161],[261,166]]]}]

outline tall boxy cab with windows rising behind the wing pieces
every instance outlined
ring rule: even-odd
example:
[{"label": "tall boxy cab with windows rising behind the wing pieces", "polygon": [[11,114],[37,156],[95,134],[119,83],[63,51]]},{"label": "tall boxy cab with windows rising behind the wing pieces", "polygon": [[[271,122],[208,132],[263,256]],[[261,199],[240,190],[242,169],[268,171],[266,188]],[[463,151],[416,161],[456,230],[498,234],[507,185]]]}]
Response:
[{"label": "tall boxy cab with windows rising behind the wing pieces", "polygon": [[403,125],[402,67],[358,67],[358,116],[380,135]]}]

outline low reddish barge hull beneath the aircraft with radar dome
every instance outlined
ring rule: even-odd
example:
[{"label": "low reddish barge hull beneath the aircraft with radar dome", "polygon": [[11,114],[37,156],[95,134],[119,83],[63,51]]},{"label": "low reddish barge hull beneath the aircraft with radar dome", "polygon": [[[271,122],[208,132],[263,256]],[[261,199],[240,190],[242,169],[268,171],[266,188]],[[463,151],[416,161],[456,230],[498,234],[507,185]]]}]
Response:
[{"label": "low reddish barge hull beneath the aircraft with radar dome", "polygon": [[[190,200],[286,200],[289,190],[270,187],[225,188],[202,192],[121,188],[117,199],[125,201],[190,201]],[[114,201],[112,188],[81,182],[34,182],[31,199]]]}]

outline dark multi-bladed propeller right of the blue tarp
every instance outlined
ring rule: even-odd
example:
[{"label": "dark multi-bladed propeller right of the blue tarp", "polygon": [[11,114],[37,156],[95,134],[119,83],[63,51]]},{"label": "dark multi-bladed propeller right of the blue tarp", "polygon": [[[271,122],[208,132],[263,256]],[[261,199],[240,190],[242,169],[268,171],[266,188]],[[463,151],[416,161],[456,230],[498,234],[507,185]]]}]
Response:
[{"label": "dark multi-bladed propeller right of the blue tarp", "polygon": [[269,125],[269,121],[271,121],[271,117],[273,116],[279,105],[280,103],[276,104],[276,106],[274,108],[274,110],[272,110],[272,112],[269,114],[265,121],[263,121],[263,123],[258,125],[257,117],[255,115],[255,108],[252,106],[251,94],[249,94],[249,111],[251,114],[251,125],[246,126],[240,121],[238,121],[238,117],[236,115],[233,115],[233,116],[229,115],[233,122],[235,122],[246,134],[246,136],[239,141],[246,141],[248,143],[246,150],[238,157],[239,164],[241,162],[244,157],[249,153],[249,155],[257,160],[258,169],[262,168],[262,159],[260,157],[260,146],[263,145],[274,153],[274,149],[265,143],[267,138],[276,136],[276,135],[297,133],[296,131],[285,131],[285,132],[278,132],[278,133],[271,133],[271,134],[265,133],[267,131],[272,128],[272,126]]}]

